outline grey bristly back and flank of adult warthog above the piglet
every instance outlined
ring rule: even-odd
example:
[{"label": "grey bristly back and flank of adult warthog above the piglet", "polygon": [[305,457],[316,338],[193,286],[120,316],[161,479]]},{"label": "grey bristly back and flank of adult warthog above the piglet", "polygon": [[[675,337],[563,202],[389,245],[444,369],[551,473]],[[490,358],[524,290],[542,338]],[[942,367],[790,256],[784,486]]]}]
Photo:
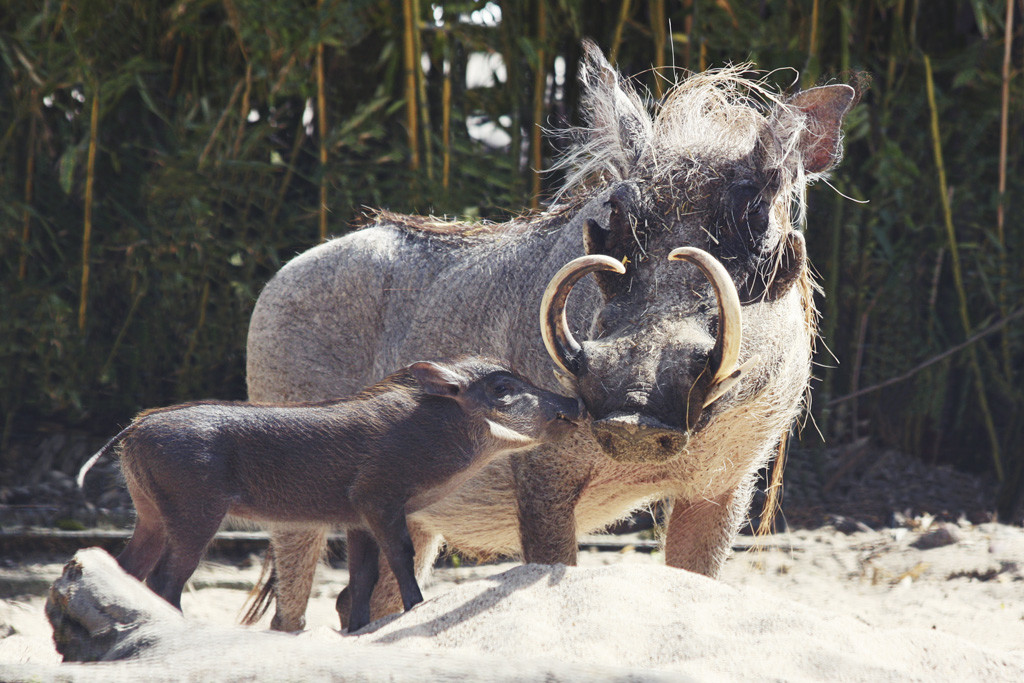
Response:
[{"label": "grey bristly back and flank of adult warthog above the piglet", "polygon": [[410,362],[464,353],[508,358],[531,382],[557,387],[537,316],[570,247],[557,231],[516,232],[385,223],[296,257],[253,311],[249,398],[344,396]]}]

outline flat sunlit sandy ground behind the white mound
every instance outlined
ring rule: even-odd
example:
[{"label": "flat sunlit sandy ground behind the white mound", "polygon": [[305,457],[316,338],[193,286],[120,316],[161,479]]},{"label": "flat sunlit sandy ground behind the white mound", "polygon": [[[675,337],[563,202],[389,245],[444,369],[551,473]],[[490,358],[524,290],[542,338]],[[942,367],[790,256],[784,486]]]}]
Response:
[{"label": "flat sunlit sandy ground behind the white mound", "polygon": [[[928,518],[914,526],[851,535],[833,527],[776,535],[759,548],[737,552],[722,582],[763,595],[766,601],[801,603],[880,630],[944,632],[1024,657],[1024,529],[995,523],[931,524]],[[663,558],[657,552],[630,549],[581,554],[584,567],[620,563],[653,565]],[[183,596],[185,616],[234,624],[259,572],[256,561],[242,564],[248,566],[205,563]],[[484,580],[516,564],[439,568],[424,594],[429,601],[454,585]],[[18,586],[37,593],[0,601],[0,667],[5,661],[59,660],[43,613],[45,598],[38,593],[59,575],[61,566],[50,562],[0,570],[0,585],[8,593]],[[338,628],[334,600],[346,582],[343,569],[319,569],[307,612],[310,630]],[[639,585],[635,590],[645,589]],[[264,618],[268,623],[269,616]]]}]

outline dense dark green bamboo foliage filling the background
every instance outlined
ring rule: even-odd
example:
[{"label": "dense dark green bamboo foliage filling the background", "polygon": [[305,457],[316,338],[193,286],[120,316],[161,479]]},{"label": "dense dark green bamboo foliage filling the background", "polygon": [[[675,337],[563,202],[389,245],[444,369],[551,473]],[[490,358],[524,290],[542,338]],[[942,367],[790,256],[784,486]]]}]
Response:
[{"label": "dense dark green bamboo foliage filling the background", "polygon": [[671,65],[870,78],[835,189],[810,197],[824,344],[804,438],[990,469],[1005,508],[1021,497],[1021,318],[847,397],[1019,310],[1019,0],[1009,32],[1006,0],[3,5],[0,447],[244,396],[260,287],[365,207],[537,206],[558,182],[534,172],[557,153],[537,124],[572,121],[587,36],[652,96]]}]

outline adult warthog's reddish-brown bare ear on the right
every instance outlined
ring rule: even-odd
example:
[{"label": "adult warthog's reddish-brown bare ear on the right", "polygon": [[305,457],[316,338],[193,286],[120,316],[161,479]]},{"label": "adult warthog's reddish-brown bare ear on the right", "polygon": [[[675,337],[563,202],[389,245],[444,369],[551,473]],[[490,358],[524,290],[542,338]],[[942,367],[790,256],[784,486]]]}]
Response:
[{"label": "adult warthog's reddish-brown bare ear on the right", "polygon": [[843,117],[853,106],[856,94],[849,85],[840,84],[811,88],[790,98],[788,104],[807,117],[800,146],[808,173],[823,173],[843,157]]}]

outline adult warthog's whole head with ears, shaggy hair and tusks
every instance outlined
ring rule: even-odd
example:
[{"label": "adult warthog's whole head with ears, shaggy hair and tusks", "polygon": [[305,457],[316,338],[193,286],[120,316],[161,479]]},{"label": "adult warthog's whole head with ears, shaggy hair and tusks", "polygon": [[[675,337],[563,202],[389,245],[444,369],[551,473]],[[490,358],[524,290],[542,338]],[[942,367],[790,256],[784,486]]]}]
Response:
[{"label": "adult warthog's whole head with ears, shaggy hair and tusks", "polygon": [[[716,414],[780,393],[775,385],[786,387],[785,410],[799,404],[814,314],[792,215],[802,217],[807,182],[839,160],[855,91],[783,99],[728,69],[681,82],[650,114],[597,48],[587,52],[590,125],[566,166],[569,191],[589,196],[588,256],[548,286],[545,345],[607,455],[664,461]],[[564,307],[589,272],[603,305],[581,343]],[[786,359],[793,347],[805,349],[801,362]]]}]

